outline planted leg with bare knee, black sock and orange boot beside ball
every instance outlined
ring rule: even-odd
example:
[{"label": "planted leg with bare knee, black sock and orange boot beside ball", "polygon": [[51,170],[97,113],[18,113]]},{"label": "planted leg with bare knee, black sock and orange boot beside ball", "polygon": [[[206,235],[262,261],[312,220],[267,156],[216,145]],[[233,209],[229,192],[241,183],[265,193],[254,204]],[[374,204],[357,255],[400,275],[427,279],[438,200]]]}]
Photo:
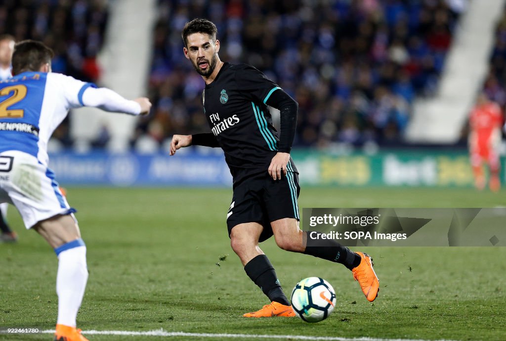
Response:
[{"label": "planted leg with bare knee, black sock and orange boot beside ball", "polygon": [[281,288],[274,267],[258,245],[263,229],[260,223],[249,222],[234,226],[230,233],[230,244],[241,259],[246,275],[271,301],[270,305],[261,310],[243,316],[291,316],[290,303]]}]

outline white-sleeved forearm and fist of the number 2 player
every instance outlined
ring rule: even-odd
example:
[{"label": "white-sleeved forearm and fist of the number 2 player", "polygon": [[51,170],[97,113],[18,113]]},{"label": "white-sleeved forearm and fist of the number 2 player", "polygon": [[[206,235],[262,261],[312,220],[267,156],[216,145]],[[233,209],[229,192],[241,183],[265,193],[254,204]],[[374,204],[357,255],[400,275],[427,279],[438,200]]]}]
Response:
[{"label": "white-sleeved forearm and fist of the number 2 player", "polygon": [[88,87],[82,94],[81,104],[130,115],[147,115],[151,108],[151,102],[146,97],[128,100],[110,89],[92,87]]}]

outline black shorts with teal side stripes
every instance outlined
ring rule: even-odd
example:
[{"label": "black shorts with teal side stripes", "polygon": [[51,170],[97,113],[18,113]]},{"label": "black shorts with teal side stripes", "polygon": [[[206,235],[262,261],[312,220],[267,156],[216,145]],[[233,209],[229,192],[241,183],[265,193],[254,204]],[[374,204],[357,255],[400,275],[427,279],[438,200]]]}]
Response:
[{"label": "black shorts with teal side stripes", "polygon": [[294,172],[282,175],[281,180],[274,180],[265,172],[242,181],[234,188],[227,214],[228,236],[235,225],[258,222],[264,226],[260,241],[269,239],[273,235],[271,221],[300,220],[297,202],[300,192],[299,174]]}]

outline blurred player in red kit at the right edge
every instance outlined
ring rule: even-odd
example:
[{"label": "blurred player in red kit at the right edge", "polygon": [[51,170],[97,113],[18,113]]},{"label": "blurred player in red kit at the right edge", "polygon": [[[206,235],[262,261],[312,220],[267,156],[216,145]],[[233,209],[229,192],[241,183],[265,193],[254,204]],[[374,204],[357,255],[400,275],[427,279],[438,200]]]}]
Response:
[{"label": "blurred player in red kit at the right edge", "polygon": [[471,111],[469,151],[475,178],[475,186],[483,190],[486,185],[486,174],[483,171],[485,162],[489,168],[489,187],[491,191],[500,189],[499,144],[501,140],[502,111],[499,105],[482,92],[478,95],[476,106]]}]

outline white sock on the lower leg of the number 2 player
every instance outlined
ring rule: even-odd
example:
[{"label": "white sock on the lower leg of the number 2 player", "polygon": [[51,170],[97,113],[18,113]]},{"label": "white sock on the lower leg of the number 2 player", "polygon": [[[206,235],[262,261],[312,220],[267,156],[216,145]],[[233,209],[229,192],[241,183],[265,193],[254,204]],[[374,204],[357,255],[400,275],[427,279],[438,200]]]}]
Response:
[{"label": "white sock on the lower leg of the number 2 player", "polygon": [[75,327],[75,318],[81,306],[88,280],[86,246],[62,251],[58,255],[58,259],[58,274],[56,276],[58,321],[56,323]]}]

